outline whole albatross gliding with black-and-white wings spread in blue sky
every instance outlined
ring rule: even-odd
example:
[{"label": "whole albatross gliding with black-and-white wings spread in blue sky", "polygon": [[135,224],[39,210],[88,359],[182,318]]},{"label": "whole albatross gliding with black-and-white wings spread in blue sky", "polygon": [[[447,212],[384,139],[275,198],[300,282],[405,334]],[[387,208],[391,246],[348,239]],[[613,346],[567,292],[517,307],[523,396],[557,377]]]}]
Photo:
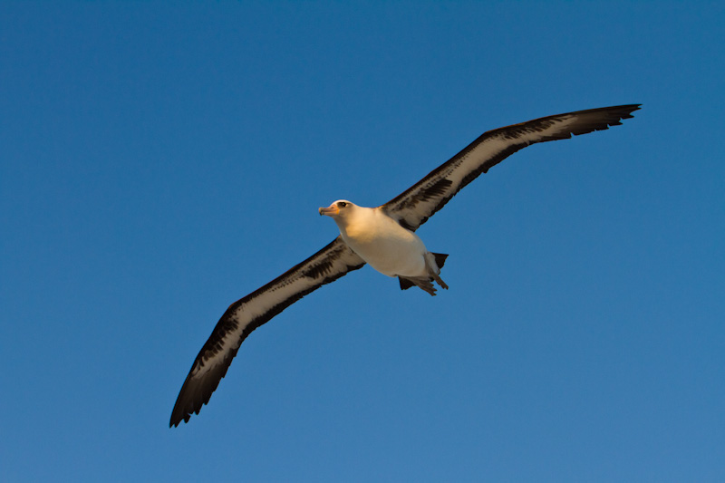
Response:
[{"label": "whole albatross gliding with black-and-white wings spread in blue sky", "polygon": [[461,188],[517,150],[619,125],[632,118],[640,105],[567,112],[488,130],[384,205],[364,208],[340,199],[319,208],[320,215],[333,218],[340,235],[304,262],[229,305],[191,365],[171,411],[169,427],[179,426],[182,420],[189,422],[191,414],[198,414],[208,403],[252,331],[304,295],[365,264],[383,275],[397,277],[402,290],[418,286],[436,295],[434,283],[447,289],[440,269],[448,255],[428,251],[415,233],[420,225]]}]

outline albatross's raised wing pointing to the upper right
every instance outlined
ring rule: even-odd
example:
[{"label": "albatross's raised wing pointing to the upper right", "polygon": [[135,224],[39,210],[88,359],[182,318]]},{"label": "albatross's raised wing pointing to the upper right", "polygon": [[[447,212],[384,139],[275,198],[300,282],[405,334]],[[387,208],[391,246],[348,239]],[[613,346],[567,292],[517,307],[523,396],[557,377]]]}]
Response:
[{"label": "albatross's raised wing pointing to the upper right", "polygon": [[415,231],[461,188],[517,150],[536,142],[565,140],[572,135],[605,130],[633,117],[632,112],[640,105],[567,112],[489,130],[382,208],[401,226]]}]

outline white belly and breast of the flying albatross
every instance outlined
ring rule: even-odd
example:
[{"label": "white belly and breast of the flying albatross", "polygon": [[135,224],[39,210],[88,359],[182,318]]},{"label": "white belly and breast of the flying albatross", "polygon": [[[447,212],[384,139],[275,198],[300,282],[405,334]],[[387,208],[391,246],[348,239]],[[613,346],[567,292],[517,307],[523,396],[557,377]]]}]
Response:
[{"label": "white belly and breast of the flying albatross", "polygon": [[356,254],[383,275],[426,275],[423,256],[427,250],[420,237],[380,212],[371,210],[366,218],[360,224],[364,229],[353,224],[340,230]]}]

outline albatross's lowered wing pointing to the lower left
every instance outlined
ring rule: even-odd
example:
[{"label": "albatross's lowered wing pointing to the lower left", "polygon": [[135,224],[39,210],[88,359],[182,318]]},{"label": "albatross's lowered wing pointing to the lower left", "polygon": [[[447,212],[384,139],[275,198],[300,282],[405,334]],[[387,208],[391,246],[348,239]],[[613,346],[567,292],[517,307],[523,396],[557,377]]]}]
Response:
[{"label": "albatross's lowered wing pointing to the lower left", "polygon": [[231,304],[191,366],[171,412],[169,427],[201,411],[227,373],[247,335],[304,295],[365,265],[341,237],[285,274]]}]

